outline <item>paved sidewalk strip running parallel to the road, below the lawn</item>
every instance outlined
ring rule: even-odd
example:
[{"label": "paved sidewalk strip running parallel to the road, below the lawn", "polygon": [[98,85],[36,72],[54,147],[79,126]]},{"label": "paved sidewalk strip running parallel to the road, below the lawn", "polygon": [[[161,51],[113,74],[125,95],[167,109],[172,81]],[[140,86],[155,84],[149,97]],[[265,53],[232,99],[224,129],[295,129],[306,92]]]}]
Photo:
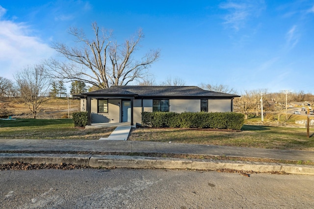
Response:
[{"label": "paved sidewalk strip running parallel to the road, below the lawn", "polygon": [[314,162],[314,151],[129,140],[0,139],[1,151],[174,153]]}]

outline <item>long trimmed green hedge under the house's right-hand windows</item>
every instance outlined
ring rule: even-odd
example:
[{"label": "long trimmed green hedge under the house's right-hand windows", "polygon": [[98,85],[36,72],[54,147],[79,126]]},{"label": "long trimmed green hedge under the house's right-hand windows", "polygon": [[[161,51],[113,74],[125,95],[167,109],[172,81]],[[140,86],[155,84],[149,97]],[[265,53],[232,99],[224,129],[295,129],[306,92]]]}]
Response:
[{"label": "long trimmed green hedge under the house's right-hand windows", "polygon": [[213,128],[240,130],[243,124],[244,115],[241,113],[142,113],[142,125],[150,127]]}]

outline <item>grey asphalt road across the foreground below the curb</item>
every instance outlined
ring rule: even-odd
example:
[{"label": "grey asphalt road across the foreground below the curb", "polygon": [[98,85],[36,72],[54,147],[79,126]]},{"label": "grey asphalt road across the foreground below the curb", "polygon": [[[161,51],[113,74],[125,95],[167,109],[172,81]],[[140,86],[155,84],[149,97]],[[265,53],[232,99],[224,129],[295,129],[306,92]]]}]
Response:
[{"label": "grey asphalt road across the foreground below the curb", "polygon": [[164,169],[0,171],[3,209],[314,208],[314,176]]}]

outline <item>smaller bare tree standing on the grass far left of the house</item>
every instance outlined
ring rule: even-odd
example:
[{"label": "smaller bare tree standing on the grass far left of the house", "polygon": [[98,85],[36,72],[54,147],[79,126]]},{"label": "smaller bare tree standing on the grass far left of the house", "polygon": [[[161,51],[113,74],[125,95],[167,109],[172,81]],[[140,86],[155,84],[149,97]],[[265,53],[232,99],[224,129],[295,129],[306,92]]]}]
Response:
[{"label": "smaller bare tree standing on the grass far left of the house", "polygon": [[28,66],[23,71],[17,72],[14,77],[21,97],[35,119],[50,86],[45,68],[43,65]]}]

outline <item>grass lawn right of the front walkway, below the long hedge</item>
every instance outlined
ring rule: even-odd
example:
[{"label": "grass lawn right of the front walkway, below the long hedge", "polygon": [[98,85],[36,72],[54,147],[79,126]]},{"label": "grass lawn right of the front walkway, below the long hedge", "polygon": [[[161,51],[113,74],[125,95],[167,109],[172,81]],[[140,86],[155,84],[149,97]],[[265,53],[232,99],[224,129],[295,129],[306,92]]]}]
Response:
[{"label": "grass lawn right of the front walkway, below the long hedge", "polygon": [[[310,129],[310,136],[314,129]],[[243,125],[241,131],[178,128],[133,129],[128,140],[314,150],[314,136],[307,139],[305,128]]]}]

